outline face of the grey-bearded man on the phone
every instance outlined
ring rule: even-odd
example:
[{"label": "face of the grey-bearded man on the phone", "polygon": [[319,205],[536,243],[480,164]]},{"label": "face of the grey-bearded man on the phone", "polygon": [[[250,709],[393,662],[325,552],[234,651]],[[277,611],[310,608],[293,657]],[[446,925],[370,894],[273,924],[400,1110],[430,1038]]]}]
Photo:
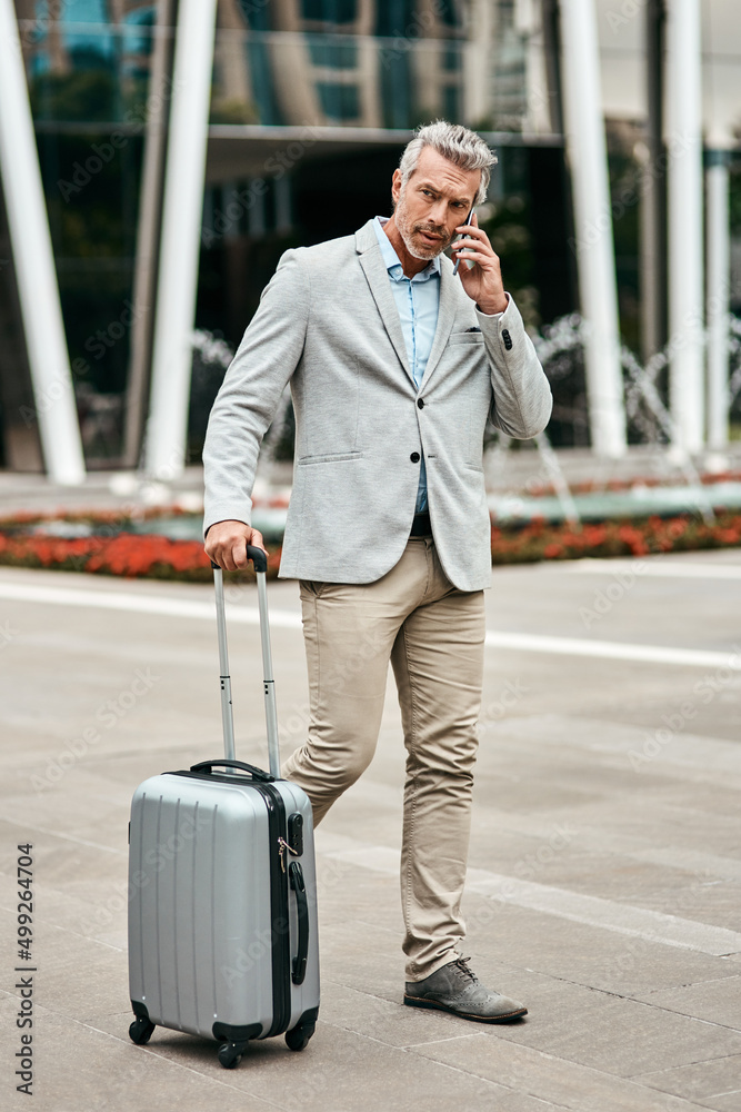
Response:
[{"label": "face of the grey-bearded man on the phone", "polygon": [[444,251],[465,221],[480,180],[481,170],[462,170],[432,147],[422,149],[403,188],[401,171],[394,171],[394,222],[413,258],[433,259]]}]

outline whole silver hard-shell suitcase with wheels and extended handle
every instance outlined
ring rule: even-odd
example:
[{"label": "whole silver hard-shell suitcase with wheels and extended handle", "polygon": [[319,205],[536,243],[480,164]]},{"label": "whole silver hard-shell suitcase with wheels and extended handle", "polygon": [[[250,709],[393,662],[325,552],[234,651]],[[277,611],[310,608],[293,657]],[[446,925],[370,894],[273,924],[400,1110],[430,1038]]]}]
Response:
[{"label": "whole silver hard-shell suitcase with wheels and extended handle", "polygon": [[129,987],[133,1042],[156,1025],[216,1039],[236,1066],[251,1039],[286,1032],[302,1050],[319,1012],[311,804],[280,780],[268,626],[258,573],[270,774],[234,759],[221,569],[217,594],[226,758],[152,776],[129,827]]}]

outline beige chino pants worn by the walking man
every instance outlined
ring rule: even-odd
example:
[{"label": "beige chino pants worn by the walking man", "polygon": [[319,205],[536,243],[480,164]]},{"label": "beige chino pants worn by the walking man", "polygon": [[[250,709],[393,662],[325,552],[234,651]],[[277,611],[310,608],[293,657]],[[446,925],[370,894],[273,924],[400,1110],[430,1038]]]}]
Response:
[{"label": "beige chino pants worn by the walking man", "polygon": [[282,774],[321,822],[370,764],[389,661],[407,747],[401,900],[407,979],[459,956],[477,718],[483,679],[483,592],[458,590],[432,538],[411,538],[369,584],[301,582],[309,738]]}]

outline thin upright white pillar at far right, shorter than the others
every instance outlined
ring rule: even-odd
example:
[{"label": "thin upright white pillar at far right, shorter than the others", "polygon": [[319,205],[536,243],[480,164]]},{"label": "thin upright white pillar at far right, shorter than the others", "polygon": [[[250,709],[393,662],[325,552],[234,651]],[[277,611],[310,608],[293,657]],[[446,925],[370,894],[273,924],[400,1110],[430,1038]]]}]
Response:
[{"label": "thin upright white pillar at far right, shorter than the others", "polygon": [[731,280],[731,220],[729,205],[729,151],[709,150],[705,156],[707,258],[708,258],[708,447],[728,447],[728,315]]}]

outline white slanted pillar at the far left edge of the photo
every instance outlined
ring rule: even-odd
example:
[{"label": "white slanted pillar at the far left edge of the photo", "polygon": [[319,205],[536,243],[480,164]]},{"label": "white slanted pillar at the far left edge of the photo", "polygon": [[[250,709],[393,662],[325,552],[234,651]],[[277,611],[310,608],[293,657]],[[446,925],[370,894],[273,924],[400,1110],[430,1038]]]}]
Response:
[{"label": "white slanted pillar at the far left edge of the photo", "polygon": [[49,478],[76,486],[84,458],[13,0],[0,0],[0,171],[41,449]]}]

